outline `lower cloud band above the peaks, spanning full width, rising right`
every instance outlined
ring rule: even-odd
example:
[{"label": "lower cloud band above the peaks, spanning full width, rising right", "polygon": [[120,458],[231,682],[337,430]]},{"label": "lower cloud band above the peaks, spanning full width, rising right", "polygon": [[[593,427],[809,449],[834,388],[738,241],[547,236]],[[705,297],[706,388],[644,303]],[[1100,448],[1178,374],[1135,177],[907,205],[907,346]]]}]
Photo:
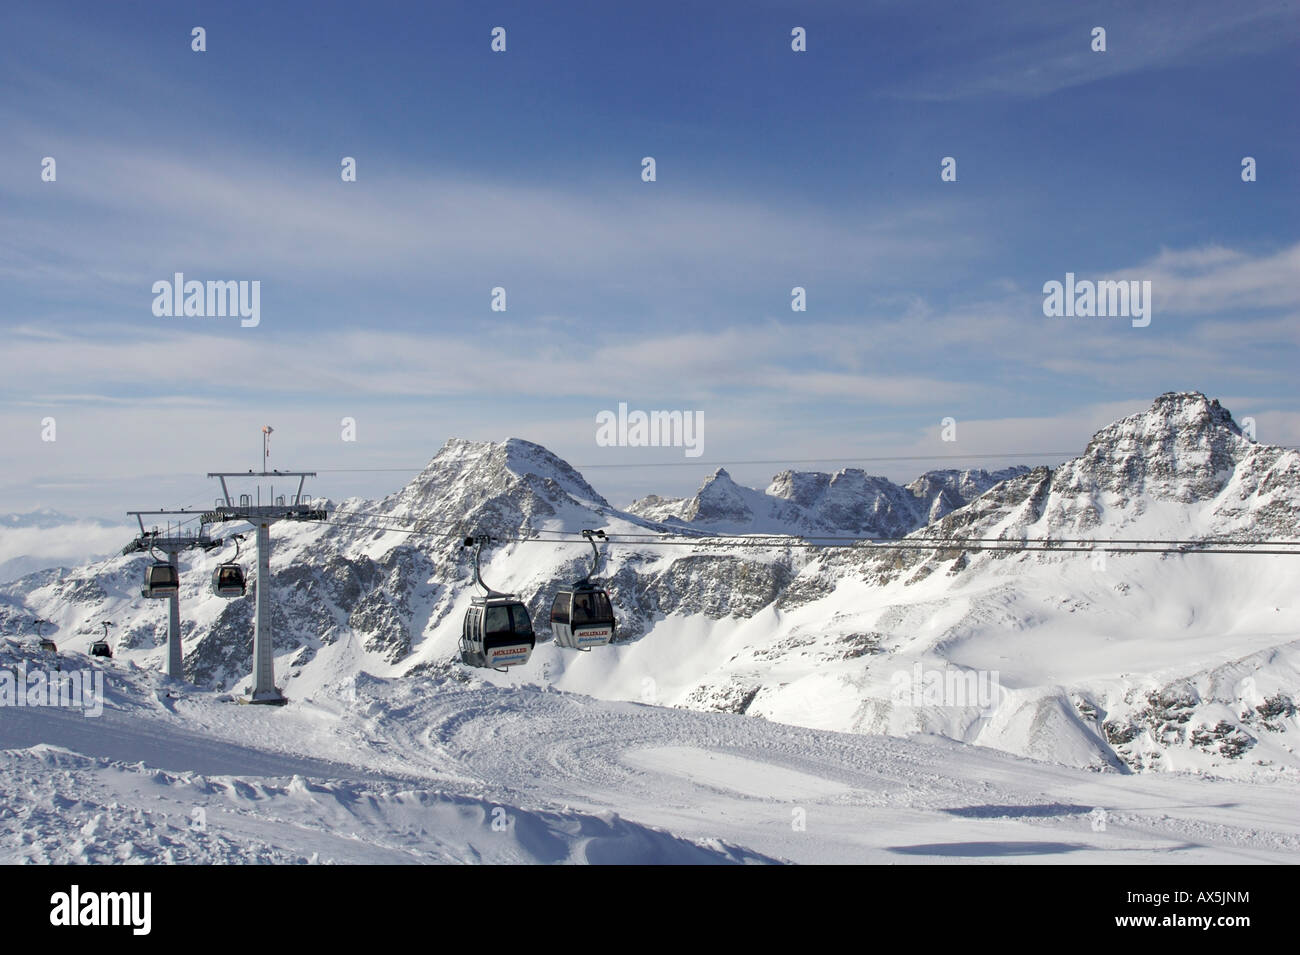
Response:
[{"label": "lower cloud band above the peaks, spanning full width, rising right", "polygon": [[[1104,381],[1135,368],[1196,377],[1230,363],[1261,376],[1290,374],[1290,368],[1258,366],[1252,348],[1300,334],[1291,311],[1300,304],[1300,244],[1260,256],[1166,249],[1144,265],[1097,277],[1150,278],[1152,330],[1113,318],[1045,318],[1036,290],[952,309],[914,303],[901,313],[770,318],[689,333],[633,334],[615,326],[581,339],[556,335],[550,324],[517,327],[507,317],[467,317],[462,325],[472,325],[472,335],[326,329],[298,338],[244,333],[234,320],[218,331],[220,318],[150,316],[139,325],[16,327],[0,373],[10,396],[35,407],[75,404],[83,395],[129,400],[133,392],[207,400],[235,386],[280,399],[450,398],[485,390],[604,399],[615,386],[611,369],[619,394],[679,403],[741,392],[802,401],[958,400],[996,390],[997,377],[1015,363]],[[1269,314],[1279,307],[1287,311]],[[1153,334],[1174,327],[1176,337]],[[992,378],[959,383],[936,373],[958,359],[987,361]]]}]

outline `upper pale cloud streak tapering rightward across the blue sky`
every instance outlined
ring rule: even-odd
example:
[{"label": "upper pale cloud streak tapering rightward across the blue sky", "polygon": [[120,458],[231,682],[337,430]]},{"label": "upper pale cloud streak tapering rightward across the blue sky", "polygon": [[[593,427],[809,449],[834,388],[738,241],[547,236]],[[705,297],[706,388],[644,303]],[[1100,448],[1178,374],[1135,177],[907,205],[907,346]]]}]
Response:
[{"label": "upper pale cloud streak tapering rightward across the blue sky", "polygon": [[[410,291],[416,277],[428,287],[467,273],[612,286],[649,274],[662,286],[708,262],[715,282],[777,274],[793,283],[974,255],[952,227],[966,214],[961,207],[850,218],[776,196],[684,195],[634,178],[621,190],[566,191],[378,157],[363,159],[358,183],[343,183],[318,157],[272,161],[235,149],[200,157],[57,139],[25,144],[60,159],[49,188],[58,203],[29,200],[0,216],[10,236],[0,244],[0,275],[65,291],[116,286],[118,301],[134,292],[146,308],[150,285],[173,272]],[[31,178],[8,170],[0,183],[12,192],[13,182]]]}]

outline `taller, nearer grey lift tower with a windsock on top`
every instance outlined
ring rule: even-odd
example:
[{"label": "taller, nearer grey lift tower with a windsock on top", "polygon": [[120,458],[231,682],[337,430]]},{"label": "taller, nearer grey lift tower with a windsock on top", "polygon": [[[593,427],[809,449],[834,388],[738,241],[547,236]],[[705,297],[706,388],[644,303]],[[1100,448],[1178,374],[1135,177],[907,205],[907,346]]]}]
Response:
[{"label": "taller, nearer grey lift tower with a windsock on top", "polygon": [[[303,483],[309,477],[316,477],[312,470],[266,470],[266,440],[270,427],[263,427],[261,444],[261,470],[228,470],[212,472],[209,478],[221,482],[221,498],[217,507],[203,516],[204,524],[221,524],[222,521],[248,521],[257,529],[257,608],[254,615],[252,629],[252,676],[254,687],[248,703],[269,703],[283,706],[287,703],[280,687],[276,686],[274,648],[272,647],[270,625],[270,525],[276,521],[324,521],[328,518],[325,508],[313,507],[311,499],[303,496]],[[270,486],[268,503],[261,503],[261,486],[257,486],[256,498],[240,494],[238,503],[230,496],[226,479],[257,479],[257,478],[298,478],[298,491],[287,500],[283,494],[276,496],[276,486]]]}]

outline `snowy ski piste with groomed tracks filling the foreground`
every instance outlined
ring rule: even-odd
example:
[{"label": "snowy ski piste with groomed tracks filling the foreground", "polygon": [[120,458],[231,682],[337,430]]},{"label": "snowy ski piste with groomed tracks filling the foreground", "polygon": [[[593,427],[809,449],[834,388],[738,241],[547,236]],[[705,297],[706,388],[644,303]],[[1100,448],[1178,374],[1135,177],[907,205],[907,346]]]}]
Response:
[{"label": "snowy ski piste with groomed tracks filling the foreground", "polygon": [[[0,643],[5,667],[43,659]],[[1287,863],[1294,781],[1114,774],[443,677],[283,708],[116,661],[0,720],[5,863]]]}]

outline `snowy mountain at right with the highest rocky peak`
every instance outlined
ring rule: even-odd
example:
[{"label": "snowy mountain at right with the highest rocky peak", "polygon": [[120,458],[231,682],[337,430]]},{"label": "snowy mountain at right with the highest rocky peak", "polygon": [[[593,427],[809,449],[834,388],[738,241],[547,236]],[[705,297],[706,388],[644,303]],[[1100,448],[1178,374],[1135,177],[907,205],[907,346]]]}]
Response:
[{"label": "snowy mountain at right with the highest rocky peak", "polygon": [[[1204,395],[1167,394],[1082,456],[1006,481],[913,538],[1294,541],[1297,508],[1300,455],[1248,440]],[[694,694],[727,700],[744,687],[748,711],[772,719],[940,732],[1076,765],[1295,772],[1284,730],[1297,729],[1296,569],[1297,557],[1258,555],[826,552],[777,602],[774,643]],[[888,667],[797,667],[828,630],[861,634]],[[996,673],[996,699],[916,706],[904,681],[900,702],[890,681],[916,667]],[[774,669],[784,682],[757,678]]]}]

